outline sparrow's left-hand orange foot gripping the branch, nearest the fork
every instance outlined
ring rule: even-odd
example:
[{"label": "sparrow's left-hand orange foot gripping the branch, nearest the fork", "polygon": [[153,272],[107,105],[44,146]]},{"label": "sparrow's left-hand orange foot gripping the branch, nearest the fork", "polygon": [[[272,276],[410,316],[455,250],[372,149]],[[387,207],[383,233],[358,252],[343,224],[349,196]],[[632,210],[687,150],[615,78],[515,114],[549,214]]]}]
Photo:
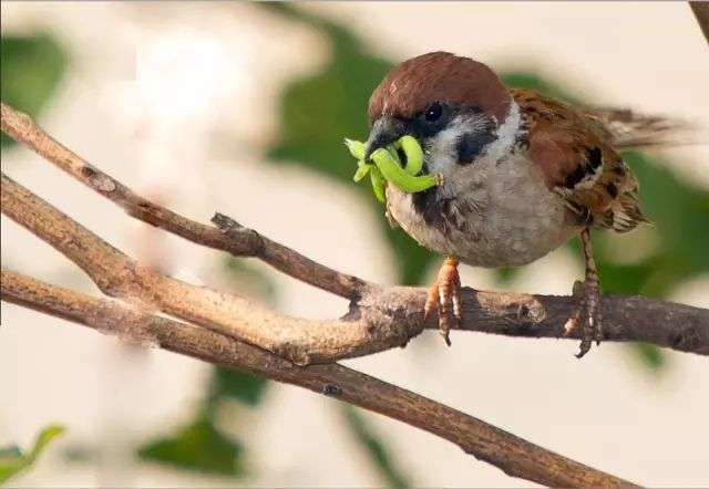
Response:
[{"label": "sparrow's left-hand orange foot gripping the branch, nearest the fork", "polygon": [[458,274],[458,259],[446,257],[439,270],[435,283],[429,289],[429,295],[423,308],[423,318],[428,318],[431,311],[439,311],[439,332],[446,345],[451,345],[451,305],[452,316],[460,322],[461,313],[461,277]]}]

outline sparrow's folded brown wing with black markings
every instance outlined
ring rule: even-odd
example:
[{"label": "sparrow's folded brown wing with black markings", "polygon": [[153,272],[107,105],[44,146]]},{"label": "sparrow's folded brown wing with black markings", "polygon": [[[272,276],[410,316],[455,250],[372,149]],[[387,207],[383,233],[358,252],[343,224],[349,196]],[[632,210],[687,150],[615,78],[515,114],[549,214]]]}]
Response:
[{"label": "sparrow's folded brown wing with black markings", "polygon": [[511,92],[526,128],[527,157],[583,223],[626,232],[647,221],[638,181],[599,119],[533,91]]}]

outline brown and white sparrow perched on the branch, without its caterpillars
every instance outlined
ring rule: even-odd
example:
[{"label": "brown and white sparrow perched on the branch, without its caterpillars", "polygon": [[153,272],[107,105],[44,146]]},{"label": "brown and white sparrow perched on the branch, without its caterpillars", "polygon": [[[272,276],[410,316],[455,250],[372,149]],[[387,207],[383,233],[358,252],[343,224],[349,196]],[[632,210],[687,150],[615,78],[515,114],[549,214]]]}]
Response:
[{"label": "brown and white sparrow perched on the branch, without its caterpillars", "polygon": [[386,214],[444,257],[424,318],[438,312],[449,346],[450,330],[462,318],[461,262],[520,267],[575,236],[585,273],[565,327],[569,334],[582,329],[578,357],[600,343],[590,230],[628,232],[649,222],[638,179],[619,152],[661,142],[671,121],[511,89],[484,63],[443,51],[394,66],[373,90],[367,115],[366,159],[412,135],[423,148],[423,171],[440,179],[420,193],[388,185]]}]

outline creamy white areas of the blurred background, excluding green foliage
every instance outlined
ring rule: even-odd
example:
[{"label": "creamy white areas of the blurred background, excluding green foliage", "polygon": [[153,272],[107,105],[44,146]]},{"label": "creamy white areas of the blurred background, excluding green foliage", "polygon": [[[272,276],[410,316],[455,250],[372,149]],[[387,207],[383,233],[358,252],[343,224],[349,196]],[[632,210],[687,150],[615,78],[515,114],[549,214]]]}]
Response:
[{"label": "creamy white areas of the blurred background, excluding green foliage", "polygon": [[[382,54],[449,50],[507,66],[541,67],[607,104],[687,117],[709,127],[707,44],[685,3],[308,3],[347,22]],[[51,28],[72,65],[42,125],[140,193],[207,221],[226,212],[336,269],[394,281],[391,251],[354,189],[267,165],[279,90],[329,55],[323,38],[248,3],[3,2],[2,32]],[[653,83],[648,83],[648,81]],[[362,107],[362,116],[364,107]],[[327,124],[327,121],[322,122]],[[238,148],[239,158],[233,159]],[[709,185],[707,146],[667,150]],[[227,159],[228,156],[228,159]],[[342,164],[349,163],[343,153]],[[333,162],[333,164],[339,164]],[[196,283],[228,289],[223,256],[133,221],[38,156],[3,152],[2,169],[111,243]],[[347,246],[342,246],[347,243]],[[97,293],[66,259],[2,218],[3,267]],[[516,290],[565,294],[579,261],[555,252],[524,269]],[[282,312],[336,316],[345,301],[274,273]],[[463,281],[499,287],[489,271]],[[709,277],[674,298],[709,306]],[[709,363],[669,354],[659,377],[606,343],[582,362],[575,342],[433,333],[347,362],[590,466],[654,487],[709,485]],[[0,446],[27,446],[61,422],[68,434],[13,483],[23,487],[369,487],[382,480],[331,399],[274,385],[255,413],[225,416],[248,450],[235,481],[138,464],[136,444],[191,418],[208,366],[121,345],[83,327],[2,304]],[[420,487],[530,486],[407,425],[368,416]],[[297,419],[297,422],[295,422]],[[96,464],[68,464],[86,443]]]}]

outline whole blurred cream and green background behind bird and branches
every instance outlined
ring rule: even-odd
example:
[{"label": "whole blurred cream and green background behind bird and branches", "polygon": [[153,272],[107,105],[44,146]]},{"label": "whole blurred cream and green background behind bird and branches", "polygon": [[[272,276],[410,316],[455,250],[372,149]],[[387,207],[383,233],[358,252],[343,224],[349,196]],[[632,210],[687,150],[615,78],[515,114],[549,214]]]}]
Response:
[{"label": "whole blurred cream and green background behind bird and branches", "polygon": [[[329,267],[425,283],[439,258],[389,229],[351,181],[370,92],[433,50],[515,86],[709,127],[707,44],[688,6],[651,3],[2,2],[2,101],[148,198],[215,210]],[[703,141],[707,141],[706,133]],[[709,148],[628,153],[655,227],[595,233],[604,290],[709,306]],[[278,311],[346,301],[253,260],[131,220],[2,136],[2,170],[130,254]],[[2,266],[97,293],[2,218]],[[567,294],[578,243],[517,270],[462,268],[483,289]],[[427,333],[345,362],[585,464],[649,486],[709,485],[709,364],[649,345]],[[66,431],[23,487],[528,487],[446,441],[336,400],[131,345],[2,304],[0,448]]]}]

